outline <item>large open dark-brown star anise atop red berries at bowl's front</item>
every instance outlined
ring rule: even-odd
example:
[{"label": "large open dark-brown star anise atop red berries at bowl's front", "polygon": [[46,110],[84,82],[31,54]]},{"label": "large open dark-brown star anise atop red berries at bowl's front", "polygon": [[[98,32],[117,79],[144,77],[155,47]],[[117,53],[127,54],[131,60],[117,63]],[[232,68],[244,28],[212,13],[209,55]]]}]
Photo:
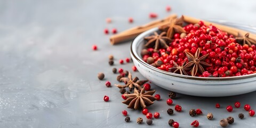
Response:
[{"label": "large open dark-brown star anise atop red berries at bowl's front", "polygon": [[200,73],[204,73],[203,66],[211,66],[209,63],[204,62],[204,60],[209,54],[205,54],[199,58],[200,52],[201,51],[199,48],[196,50],[195,56],[189,52],[185,52],[188,58],[188,63],[184,66],[184,68],[192,67],[192,69],[190,70],[191,76],[195,76],[197,71],[199,71]]}]

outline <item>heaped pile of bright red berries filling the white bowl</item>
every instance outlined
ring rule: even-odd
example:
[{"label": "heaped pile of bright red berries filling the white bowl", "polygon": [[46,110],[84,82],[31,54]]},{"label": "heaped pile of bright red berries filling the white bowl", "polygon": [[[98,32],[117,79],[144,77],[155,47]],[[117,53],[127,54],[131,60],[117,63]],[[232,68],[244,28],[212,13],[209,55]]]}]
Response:
[{"label": "heaped pile of bright red berries filling the white bowl", "polygon": [[[143,60],[147,62],[149,57],[153,57],[154,63],[161,61],[161,65],[156,65],[158,69],[169,71],[173,62],[181,66],[188,61],[185,52],[194,55],[199,48],[200,57],[209,54],[205,62],[211,66],[204,67],[205,72],[197,73],[196,76],[230,77],[256,73],[255,45],[241,45],[233,35],[228,35],[212,25],[205,26],[203,21],[195,25],[189,24],[183,29],[186,34],[175,33],[167,49],[148,48],[148,54],[143,55]],[[187,73],[190,74],[190,71]]]}]

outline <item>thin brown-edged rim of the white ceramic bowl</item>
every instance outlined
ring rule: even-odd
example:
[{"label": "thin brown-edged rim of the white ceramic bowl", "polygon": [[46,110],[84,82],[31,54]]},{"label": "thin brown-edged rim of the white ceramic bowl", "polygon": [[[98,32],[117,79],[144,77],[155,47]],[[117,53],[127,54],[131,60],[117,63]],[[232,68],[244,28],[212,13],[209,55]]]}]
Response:
[{"label": "thin brown-edged rim of the white ceramic bowl", "polygon": [[160,70],[156,67],[153,67],[151,65],[149,65],[148,63],[146,63],[145,61],[143,61],[140,57],[139,54],[136,52],[135,50],[135,46],[136,44],[139,43],[140,39],[145,37],[148,34],[153,33],[154,31],[159,30],[158,27],[155,28],[151,28],[143,33],[141,33],[140,35],[138,35],[131,44],[131,55],[139,61],[139,63],[151,70],[157,71],[158,73],[162,73],[168,76],[175,76],[175,77],[179,77],[179,78],[186,78],[186,79],[196,79],[196,80],[202,80],[202,81],[207,81],[207,80],[213,80],[213,81],[229,81],[229,80],[233,80],[233,79],[244,79],[244,78],[251,78],[251,77],[255,77],[256,73],[254,74],[249,74],[249,75],[243,75],[243,76],[231,76],[231,77],[198,77],[198,76],[188,76],[188,75],[181,75],[181,74],[175,74],[175,73],[171,73],[168,71],[164,71],[164,70]]}]

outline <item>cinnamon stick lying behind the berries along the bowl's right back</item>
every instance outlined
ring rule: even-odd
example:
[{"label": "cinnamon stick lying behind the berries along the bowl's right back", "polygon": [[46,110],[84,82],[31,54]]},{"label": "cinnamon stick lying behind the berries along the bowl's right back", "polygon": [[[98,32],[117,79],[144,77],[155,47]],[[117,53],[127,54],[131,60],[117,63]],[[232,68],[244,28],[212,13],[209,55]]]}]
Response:
[{"label": "cinnamon stick lying behind the berries along the bowl's right back", "polygon": [[[188,17],[187,15],[183,15],[184,17],[184,21],[188,22],[188,23],[198,23],[200,20],[193,18],[193,17]],[[204,21],[204,20],[202,20]],[[242,35],[245,35],[246,33],[249,33],[248,31],[245,30],[241,30],[241,29],[237,29],[237,28],[233,28],[233,27],[229,27],[229,26],[225,26],[225,25],[220,25],[218,23],[213,23],[213,22],[208,22],[208,21],[204,21],[204,25],[209,26],[209,25],[213,25],[216,26],[217,28],[219,28],[222,31],[226,31],[228,34],[234,35],[234,36],[238,36],[238,32],[241,33]],[[249,34],[249,37],[256,40],[256,34]]]}]

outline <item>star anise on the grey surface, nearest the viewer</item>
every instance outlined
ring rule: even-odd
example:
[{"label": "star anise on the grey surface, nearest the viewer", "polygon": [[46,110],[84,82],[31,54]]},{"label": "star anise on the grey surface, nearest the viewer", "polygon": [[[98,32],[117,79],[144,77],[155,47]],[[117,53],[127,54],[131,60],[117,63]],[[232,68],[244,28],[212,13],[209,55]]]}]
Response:
[{"label": "star anise on the grey surface, nearest the viewer", "polygon": [[153,97],[153,94],[155,93],[155,90],[153,91],[147,91],[145,92],[144,87],[139,92],[137,89],[134,89],[133,94],[124,94],[127,99],[123,101],[126,105],[128,105],[127,108],[146,108],[147,106],[152,105],[154,100],[156,100],[155,97]]}]

